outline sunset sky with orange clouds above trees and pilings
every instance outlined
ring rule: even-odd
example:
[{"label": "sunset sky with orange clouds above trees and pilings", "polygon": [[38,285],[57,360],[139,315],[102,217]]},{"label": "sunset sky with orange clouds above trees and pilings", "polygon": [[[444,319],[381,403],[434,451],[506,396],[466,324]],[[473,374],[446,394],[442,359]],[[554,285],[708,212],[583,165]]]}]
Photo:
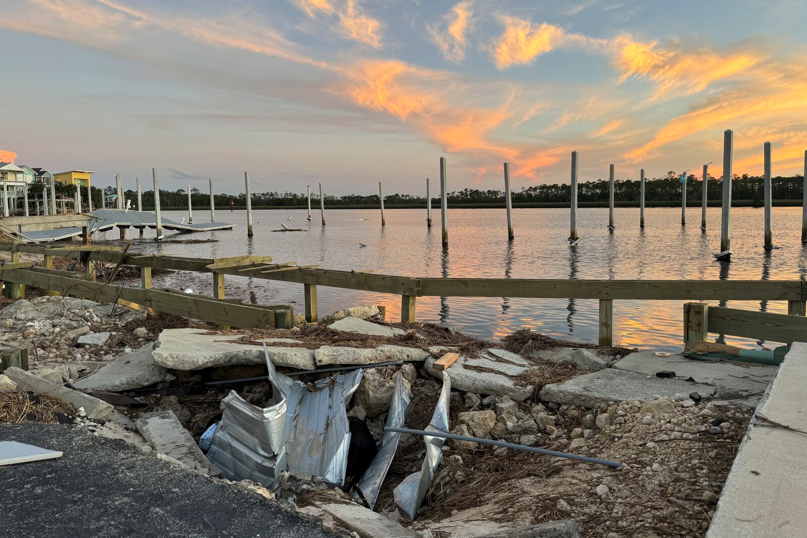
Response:
[{"label": "sunset sky with orange clouds above trees and pilings", "polygon": [[[0,161],[220,192],[801,173],[807,2],[2,0]],[[16,155],[15,155],[16,154]],[[435,181],[436,182],[436,181]]]}]

